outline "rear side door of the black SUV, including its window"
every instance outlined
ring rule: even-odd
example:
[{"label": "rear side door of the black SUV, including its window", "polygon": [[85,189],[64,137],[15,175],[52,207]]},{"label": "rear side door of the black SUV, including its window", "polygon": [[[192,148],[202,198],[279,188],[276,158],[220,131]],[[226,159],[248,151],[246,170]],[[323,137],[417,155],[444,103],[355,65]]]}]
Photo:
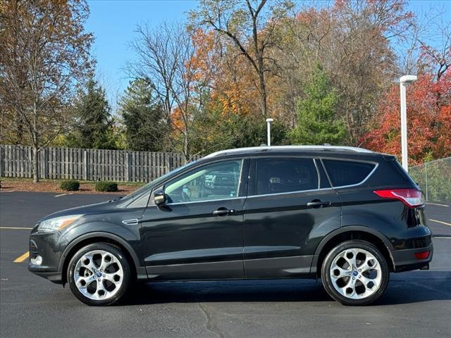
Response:
[{"label": "rear side door of the black SUV, including its window", "polygon": [[340,200],[321,161],[254,158],[250,177],[244,220],[246,277],[309,274],[316,246],[340,227]]}]

